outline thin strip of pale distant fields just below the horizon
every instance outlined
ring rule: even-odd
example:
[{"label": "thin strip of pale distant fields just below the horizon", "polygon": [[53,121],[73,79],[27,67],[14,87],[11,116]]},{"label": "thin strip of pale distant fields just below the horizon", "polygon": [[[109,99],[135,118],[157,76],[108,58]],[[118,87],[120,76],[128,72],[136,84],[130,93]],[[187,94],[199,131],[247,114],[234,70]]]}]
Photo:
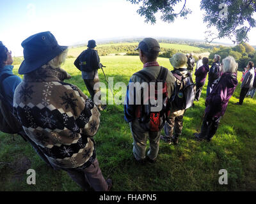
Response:
[{"label": "thin strip of pale distant fields just below the horizon", "polygon": [[[101,47],[110,47],[110,46],[118,46],[118,45],[123,45],[123,46],[128,46],[128,45],[134,45],[138,46],[139,43],[109,43],[109,44],[102,44],[102,45],[97,45],[97,48]],[[175,50],[186,50],[187,52],[195,52],[195,51],[200,51],[202,48],[198,47],[193,47],[189,45],[180,45],[180,44],[171,44],[171,43],[159,43],[160,47],[162,48],[172,48]],[[72,55],[74,57],[77,57],[83,50],[86,50],[87,47],[77,47],[77,48],[69,48],[68,49],[68,55]],[[118,52],[116,52],[118,53]]]}]

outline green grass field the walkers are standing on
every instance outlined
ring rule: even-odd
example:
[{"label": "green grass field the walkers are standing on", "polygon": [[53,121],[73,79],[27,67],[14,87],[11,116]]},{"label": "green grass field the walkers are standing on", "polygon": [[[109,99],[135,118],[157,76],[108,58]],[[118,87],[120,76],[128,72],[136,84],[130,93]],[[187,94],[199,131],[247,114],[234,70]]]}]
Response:
[{"label": "green grass field the walkers are standing on", "polygon": [[[100,60],[107,66],[107,77],[125,84],[142,67],[138,56],[106,56]],[[168,59],[158,61],[172,69]],[[89,96],[73,62],[67,59],[63,66],[72,75],[68,82]],[[15,66],[15,73],[18,68]],[[99,77],[106,84],[101,70]],[[109,105],[101,113],[95,141],[100,168],[104,177],[110,175],[113,179],[113,191],[255,191],[256,102],[246,98],[243,106],[234,105],[240,85],[211,143],[193,138],[204,113],[205,85],[200,101],[184,116],[179,145],[161,142],[157,163],[143,166],[134,163],[132,157],[132,136],[124,120],[124,106]],[[0,141],[0,191],[81,191],[65,171],[48,168],[19,136],[0,133]],[[29,168],[36,171],[36,185],[26,184]],[[228,185],[218,183],[221,169],[228,171]]]}]

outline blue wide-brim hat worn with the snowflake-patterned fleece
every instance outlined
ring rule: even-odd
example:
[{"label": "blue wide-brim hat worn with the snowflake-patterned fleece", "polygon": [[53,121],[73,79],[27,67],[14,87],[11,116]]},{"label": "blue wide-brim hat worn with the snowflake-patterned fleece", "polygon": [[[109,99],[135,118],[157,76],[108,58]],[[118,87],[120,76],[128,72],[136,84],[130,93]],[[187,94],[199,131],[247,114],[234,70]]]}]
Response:
[{"label": "blue wide-brim hat worn with the snowflake-patterned fleece", "polygon": [[21,46],[24,48],[24,61],[20,64],[20,75],[35,71],[68,48],[58,45],[56,38],[49,31],[29,36],[22,41]]}]

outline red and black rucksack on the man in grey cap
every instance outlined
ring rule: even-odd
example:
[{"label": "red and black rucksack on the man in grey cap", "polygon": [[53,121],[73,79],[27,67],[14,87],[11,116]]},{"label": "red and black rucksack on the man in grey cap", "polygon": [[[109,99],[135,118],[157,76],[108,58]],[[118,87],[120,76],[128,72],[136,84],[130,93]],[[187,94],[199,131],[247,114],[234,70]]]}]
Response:
[{"label": "red and black rucksack on the man in grey cap", "polygon": [[[158,132],[164,126],[166,120],[168,120],[168,115],[170,115],[170,99],[168,98],[166,77],[168,74],[168,69],[161,67],[159,75],[155,78],[153,75],[147,71],[141,70],[134,75],[143,78],[145,82],[148,83],[148,94],[147,98],[141,99],[143,101],[142,105],[138,105],[136,108],[136,118],[138,118],[141,128],[145,131]],[[150,82],[154,82],[155,94],[150,96]],[[152,105],[150,103],[150,97],[157,101],[157,83],[163,83],[163,88],[159,91],[163,94],[163,104],[162,109],[158,112],[152,112],[152,107],[157,105]]]}]

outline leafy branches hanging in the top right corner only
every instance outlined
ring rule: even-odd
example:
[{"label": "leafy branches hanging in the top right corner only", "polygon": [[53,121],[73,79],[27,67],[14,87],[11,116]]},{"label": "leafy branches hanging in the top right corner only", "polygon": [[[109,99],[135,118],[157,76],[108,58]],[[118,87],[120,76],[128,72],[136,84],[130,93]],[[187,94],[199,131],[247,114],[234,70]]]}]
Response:
[{"label": "leafy branches hanging in the top right corner only", "polygon": [[[225,3],[228,6],[227,18],[220,17],[220,4]],[[211,41],[216,38],[228,37],[233,39],[234,43],[248,41],[247,33],[256,26],[253,13],[256,11],[255,0],[202,0],[201,9],[205,11],[204,22],[207,27],[216,27],[218,36],[213,37],[209,32]]]}]

